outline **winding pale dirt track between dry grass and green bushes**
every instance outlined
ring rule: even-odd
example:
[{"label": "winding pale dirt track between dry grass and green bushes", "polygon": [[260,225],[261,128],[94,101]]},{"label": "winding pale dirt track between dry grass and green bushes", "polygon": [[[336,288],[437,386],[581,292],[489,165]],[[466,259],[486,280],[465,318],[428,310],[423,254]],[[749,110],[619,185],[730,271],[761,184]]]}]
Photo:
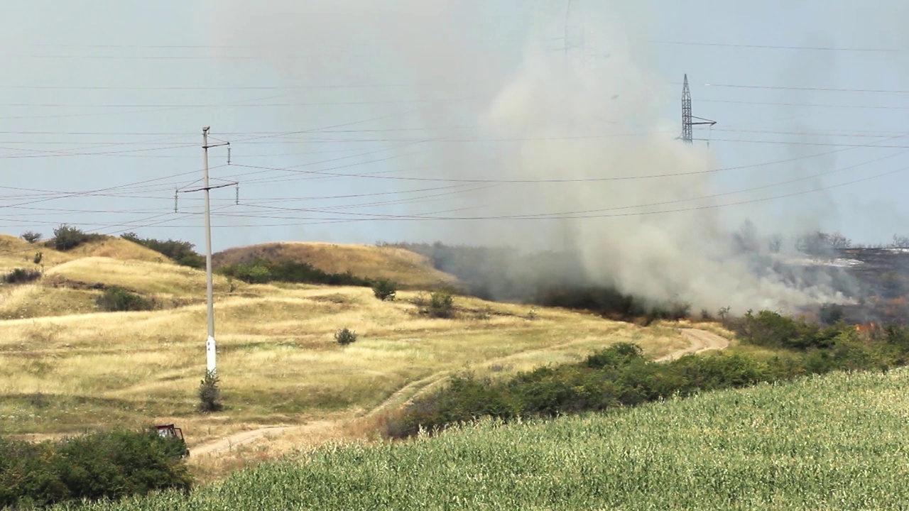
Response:
[{"label": "winding pale dirt track between dry grass and green bushes", "polygon": [[[656,359],[657,361],[673,360],[680,356],[699,353],[712,349],[724,349],[725,347],[729,346],[728,340],[724,339],[721,336],[717,336],[712,332],[707,332],[706,330],[701,330],[699,328],[683,328],[682,334],[687,337],[689,341],[691,341],[691,346],[674,351],[669,355],[661,356],[660,358]],[[552,346],[550,346],[550,348],[551,347]],[[395,394],[389,396],[387,399],[385,399],[385,401],[382,402],[382,404],[373,408],[365,416],[355,418],[375,416],[379,412],[391,406],[394,406],[398,402],[405,403],[411,401],[416,396],[423,394],[429,388],[444,381],[445,377],[447,377],[448,374],[449,371],[443,371],[441,373],[436,373],[432,376],[426,376],[421,380],[409,383],[406,386],[401,387],[397,392],[395,392]],[[410,395],[410,397],[405,400],[405,396],[408,395]],[[315,432],[317,430],[330,430],[337,426],[341,426],[350,420],[352,419],[345,418],[340,420],[313,421],[302,426],[261,427],[259,429],[236,433],[235,435],[227,436],[215,442],[210,442],[201,446],[194,446],[190,449],[190,452],[192,453],[192,456],[211,456],[225,451],[230,451],[236,446],[242,446],[244,444],[255,442],[255,440],[258,440],[259,438],[279,435],[286,431],[295,430],[298,433],[305,433],[306,431]]]}]

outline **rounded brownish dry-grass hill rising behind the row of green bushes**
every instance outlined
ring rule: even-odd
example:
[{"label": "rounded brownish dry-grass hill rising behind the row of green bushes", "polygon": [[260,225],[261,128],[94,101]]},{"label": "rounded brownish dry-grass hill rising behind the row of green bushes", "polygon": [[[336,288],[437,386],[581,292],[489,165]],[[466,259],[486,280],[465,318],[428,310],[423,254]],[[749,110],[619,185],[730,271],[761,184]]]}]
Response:
[{"label": "rounded brownish dry-grass hill rising behind the row of green bushes", "polygon": [[412,289],[456,282],[454,276],[436,270],[424,255],[394,246],[285,242],[240,246],[212,255],[216,268],[255,259],[307,263],[330,274],[387,278]]}]

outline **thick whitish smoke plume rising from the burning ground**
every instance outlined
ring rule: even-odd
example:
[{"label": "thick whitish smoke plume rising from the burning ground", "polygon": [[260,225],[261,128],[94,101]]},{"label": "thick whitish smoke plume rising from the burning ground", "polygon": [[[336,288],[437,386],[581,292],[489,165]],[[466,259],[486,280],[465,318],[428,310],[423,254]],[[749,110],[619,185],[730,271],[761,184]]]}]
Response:
[{"label": "thick whitish smoke plume rising from the burning ground", "polygon": [[[265,52],[295,79],[347,75],[406,82],[417,99],[466,98],[460,110],[431,105],[420,121],[436,134],[474,125],[458,134],[497,142],[433,145],[426,162],[439,176],[512,182],[455,204],[474,207],[457,215],[483,219],[435,223],[435,238],[573,249],[591,283],[712,311],[836,299],[826,286],[792,286],[772,272],[759,277],[754,255],[734,249],[723,210],[713,207],[729,199],[711,197],[718,163],[704,148],[678,141],[677,119],[663,117],[677,92],[650,65],[641,9],[629,14],[628,2],[617,3],[621,11],[597,3],[584,10],[581,25],[595,30],[582,26],[583,47],[560,51],[564,8],[533,4],[494,13],[480,2],[444,0],[391,7],[272,1],[255,5],[258,17],[228,7],[223,30],[233,41],[245,35],[245,42],[289,52],[335,52],[334,59],[312,57],[308,68],[283,61],[280,51]],[[514,10],[532,13],[523,20],[525,44],[489,42],[489,16],[504,19]],[[370,45],[366,61],[355,57],[363,45]]]}]

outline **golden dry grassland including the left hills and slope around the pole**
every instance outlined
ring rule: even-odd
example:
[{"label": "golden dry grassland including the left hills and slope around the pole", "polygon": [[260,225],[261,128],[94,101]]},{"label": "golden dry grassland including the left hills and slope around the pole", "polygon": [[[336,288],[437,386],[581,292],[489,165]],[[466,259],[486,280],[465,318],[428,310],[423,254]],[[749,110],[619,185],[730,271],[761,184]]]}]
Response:
[{"label": "golden dry grassland including the left hills and slope around the pole", "polygon": [[[422,291],[383,302],[365,287],[237,286],[218,277],[225,410],[203,415],[196,392],[205,372],[205,274],[156,261],[141,248],[99,244],[85,247],[83,256],[45,250],[55,264],[45,266],[40,281],[3,286],[5,434],[175,422],[193,448],[265,426],[309,425],[224,456],[194,456],[197,470],[215,477],[320,438],[369,436],[382,418],[377,407],[400,405],[454,372],[510,374],[577,360],[618,341],[639,343],[651,356],[688,344],[677,326],[644,328],[561,309],[532,313],[529,306],[456,296],[454,318],[437,319],[415,305],[425,299]],[[99,312],[101,291],[85,286],[96,284],[153,296],[164,308]],[[359,336],[354,344],[335,342],[343,327]]]}]

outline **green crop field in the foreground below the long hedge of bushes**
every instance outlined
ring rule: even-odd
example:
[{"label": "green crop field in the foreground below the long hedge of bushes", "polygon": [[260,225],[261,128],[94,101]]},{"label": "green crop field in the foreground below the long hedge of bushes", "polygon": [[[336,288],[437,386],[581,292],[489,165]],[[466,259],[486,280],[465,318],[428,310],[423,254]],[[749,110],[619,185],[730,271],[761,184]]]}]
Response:
[{"label": "green crop field in the foreground below the long hedge of bushes", "polygon": [[909,370],[837,373],[598,416],[329,446],[188,495],[90,509],[895,509]]}]

